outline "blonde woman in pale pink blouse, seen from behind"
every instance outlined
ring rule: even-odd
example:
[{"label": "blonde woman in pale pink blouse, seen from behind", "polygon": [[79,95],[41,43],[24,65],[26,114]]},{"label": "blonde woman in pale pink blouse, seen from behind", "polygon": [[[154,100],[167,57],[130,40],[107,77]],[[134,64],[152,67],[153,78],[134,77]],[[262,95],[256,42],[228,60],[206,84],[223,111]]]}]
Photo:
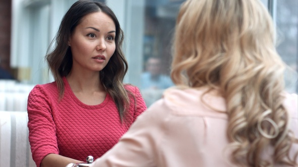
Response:
[{"label": "blonde woman in pale pink blouse, seen from behind", "polygon": [[188,0],[180,9],[176,88],[141,114],[97,166],[297,166],[298,99],[259,0]]}]

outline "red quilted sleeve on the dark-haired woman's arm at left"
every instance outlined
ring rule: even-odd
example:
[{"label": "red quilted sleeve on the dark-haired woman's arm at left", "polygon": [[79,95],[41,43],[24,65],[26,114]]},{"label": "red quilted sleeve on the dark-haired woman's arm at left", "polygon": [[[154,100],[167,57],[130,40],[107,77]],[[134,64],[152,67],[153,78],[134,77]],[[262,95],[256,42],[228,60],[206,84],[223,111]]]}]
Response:
[{"label": "red quilted sleeve on the dark-haired woman's arm at left", "polygon": [[35,86],[30,92],[27,111],[32,157],[39,167],[47,154],[59,153],[51,101],[40,85]]}]

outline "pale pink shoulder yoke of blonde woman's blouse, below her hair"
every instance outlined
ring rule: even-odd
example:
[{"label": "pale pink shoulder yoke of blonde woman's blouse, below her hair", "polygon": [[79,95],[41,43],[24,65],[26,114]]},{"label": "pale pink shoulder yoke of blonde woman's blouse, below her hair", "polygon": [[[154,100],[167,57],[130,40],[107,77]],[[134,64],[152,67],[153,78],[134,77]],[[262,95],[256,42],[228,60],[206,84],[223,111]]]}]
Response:
[{"label": "pale pink shoulder yoke of blonde woman's blouse, below her hair", "polygon": [[175,114],[226,117],[226,104],[216,92],[206,89],[172,87],[163,94],[162,101]]}]

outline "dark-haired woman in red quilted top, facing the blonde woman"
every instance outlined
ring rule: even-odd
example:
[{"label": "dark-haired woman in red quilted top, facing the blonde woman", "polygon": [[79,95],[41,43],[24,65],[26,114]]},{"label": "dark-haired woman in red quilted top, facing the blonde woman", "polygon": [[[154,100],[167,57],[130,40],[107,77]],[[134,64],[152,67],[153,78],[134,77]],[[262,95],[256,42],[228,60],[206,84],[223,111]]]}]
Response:
[{"label": "dark-haired woman in red quilted top, facing the blonde woman", "polygon": [[104,4],[78,1],[66,13],[46,55],[55,81],[35,86],[28,98],[37,167],[100,157],[146,109],[139,90],[123,84],[122,41],[119,22]]}]

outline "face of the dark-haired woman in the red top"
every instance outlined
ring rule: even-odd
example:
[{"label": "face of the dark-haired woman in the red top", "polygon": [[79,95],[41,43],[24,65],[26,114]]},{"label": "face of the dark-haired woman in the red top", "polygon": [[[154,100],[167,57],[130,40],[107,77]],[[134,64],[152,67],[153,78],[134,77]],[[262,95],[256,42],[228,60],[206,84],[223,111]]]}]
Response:
[{"label": "face of the dark-haired woman in the red top", "polygon": [[68,44],[73,57],[72,70],[100,71],[115,52],[116,26],[103,12],[83,17]]}]

